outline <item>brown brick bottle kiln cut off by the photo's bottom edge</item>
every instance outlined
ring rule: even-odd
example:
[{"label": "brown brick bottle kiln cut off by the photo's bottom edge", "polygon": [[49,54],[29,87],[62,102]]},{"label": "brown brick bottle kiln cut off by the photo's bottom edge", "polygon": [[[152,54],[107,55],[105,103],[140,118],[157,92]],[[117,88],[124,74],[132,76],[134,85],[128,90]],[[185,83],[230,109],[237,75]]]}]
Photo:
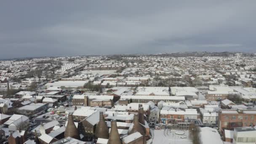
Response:
[{"label": "brown brick bottle kiln cut off by the photo's bottom edge", "polygon": [[118,130],[117,130],[116,120],[111,121],[111,130],[110,130],[109,140],[107,141],[107,144],[122,144],[119,137]]}]

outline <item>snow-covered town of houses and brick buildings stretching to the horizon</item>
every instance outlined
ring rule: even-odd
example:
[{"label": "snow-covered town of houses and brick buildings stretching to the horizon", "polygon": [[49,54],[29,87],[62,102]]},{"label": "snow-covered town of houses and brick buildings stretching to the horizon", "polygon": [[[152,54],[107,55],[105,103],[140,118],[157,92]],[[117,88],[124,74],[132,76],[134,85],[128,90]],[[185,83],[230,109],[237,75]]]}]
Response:
[{"label": "snow-covered town of houses and brick buildings stretching to the horizon", "polygon": [[244,53],[0,61],[0,143],[255,144],[255,61]]}]

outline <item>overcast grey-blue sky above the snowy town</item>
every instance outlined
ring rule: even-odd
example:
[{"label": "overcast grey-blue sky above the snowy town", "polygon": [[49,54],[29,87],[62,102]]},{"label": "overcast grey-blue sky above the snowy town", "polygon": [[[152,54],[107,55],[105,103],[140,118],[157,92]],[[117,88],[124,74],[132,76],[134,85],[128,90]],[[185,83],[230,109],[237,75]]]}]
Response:
[{"label": "overcast grey-blue sky above the snowy town", "polygon": [[0,2],[0,59],[182,51],[256,52],[255,45],[256,0]]}]

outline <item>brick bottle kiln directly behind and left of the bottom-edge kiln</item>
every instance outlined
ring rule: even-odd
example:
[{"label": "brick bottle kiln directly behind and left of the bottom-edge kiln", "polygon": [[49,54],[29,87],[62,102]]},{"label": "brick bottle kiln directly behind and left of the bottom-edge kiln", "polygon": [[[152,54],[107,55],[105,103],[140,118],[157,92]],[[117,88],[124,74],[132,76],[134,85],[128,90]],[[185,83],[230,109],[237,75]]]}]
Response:
[{"label": "brick bottle kiln directly behind and left of the bottom-edge kiln", "polygon": [[109,128],[104,120],[103,112],[99,112],[99,123],[96,125],[95,137],[96,139],[109,139]]}]

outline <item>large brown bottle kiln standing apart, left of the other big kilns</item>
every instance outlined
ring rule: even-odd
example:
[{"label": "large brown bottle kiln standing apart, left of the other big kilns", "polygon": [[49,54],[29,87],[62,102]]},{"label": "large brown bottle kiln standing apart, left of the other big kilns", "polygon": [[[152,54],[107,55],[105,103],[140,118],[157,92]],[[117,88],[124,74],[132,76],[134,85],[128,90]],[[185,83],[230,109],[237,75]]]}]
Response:
[{"label": "large brown bottle kiln standing apart, left of the other big kilns", "polygon": [[67,121],[67,127],[64,132],[64,137],[72,137],[74,139],[80,139],[79,132],[77,130],[77,127],[75,126],[75,123],[73,121],[72,114],[69,114],[69,118]]}]

